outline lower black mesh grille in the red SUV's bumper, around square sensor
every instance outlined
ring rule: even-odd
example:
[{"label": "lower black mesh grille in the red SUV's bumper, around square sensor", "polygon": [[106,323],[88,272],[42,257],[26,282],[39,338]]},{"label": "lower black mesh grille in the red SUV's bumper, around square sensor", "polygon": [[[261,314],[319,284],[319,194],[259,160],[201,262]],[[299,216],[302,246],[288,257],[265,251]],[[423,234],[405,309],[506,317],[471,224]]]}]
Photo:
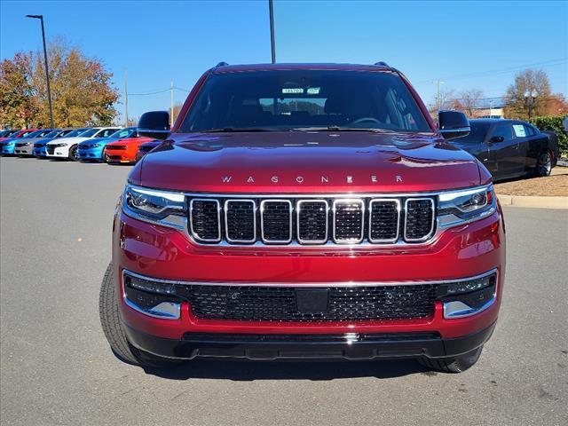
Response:
[{"label": "lower black mesh grille in the red SUV's bumper, around square sensor", "polygon": [[436,284],[327,288],[325,312],[300,312],[296,288],[201,286],[178,288],[200,319],[342,321],[414,319],[434,312]]}]

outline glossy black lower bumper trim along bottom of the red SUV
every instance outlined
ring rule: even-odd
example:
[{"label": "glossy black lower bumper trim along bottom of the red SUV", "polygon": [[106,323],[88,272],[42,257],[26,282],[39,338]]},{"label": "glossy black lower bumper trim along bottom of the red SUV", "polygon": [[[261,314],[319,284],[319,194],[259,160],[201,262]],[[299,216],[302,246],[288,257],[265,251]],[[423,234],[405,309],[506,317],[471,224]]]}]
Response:
[{"label": "glossy black lower bumper trim along bottom of the red SUV", "polygon": [[272,359],[402,359],[452,358],[484,344],[495,323],[470,335],[441,338],[437,333],[345,335],[225,335],[186,333],[163,339],[126,327],[134,346],[175,359],[195,357]]}]

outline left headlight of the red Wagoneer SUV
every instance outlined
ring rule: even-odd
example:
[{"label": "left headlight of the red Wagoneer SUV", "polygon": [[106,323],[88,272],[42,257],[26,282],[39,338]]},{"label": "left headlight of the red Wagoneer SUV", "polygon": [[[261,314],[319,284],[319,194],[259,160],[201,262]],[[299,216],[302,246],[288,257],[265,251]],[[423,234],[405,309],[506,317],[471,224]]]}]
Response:
[{"label": "left headlight of the red Wagoneer SUV", "polygon": [[185,229],[187,209],[183,193],[126,185],[122,209],[145,222]]}]

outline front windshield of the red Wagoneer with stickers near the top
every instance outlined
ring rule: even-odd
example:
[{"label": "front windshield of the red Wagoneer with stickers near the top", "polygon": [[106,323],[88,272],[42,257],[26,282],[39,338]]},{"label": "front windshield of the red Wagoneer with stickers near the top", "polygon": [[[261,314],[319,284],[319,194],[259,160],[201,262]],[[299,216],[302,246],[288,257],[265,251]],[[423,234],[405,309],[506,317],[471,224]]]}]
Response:
[{"label": "front windshield of the red Wagoneer with stickers near the top", "polygon": [[431,132],[402,79],[387,72],[248,71],[210,75],[180,131]]}]

